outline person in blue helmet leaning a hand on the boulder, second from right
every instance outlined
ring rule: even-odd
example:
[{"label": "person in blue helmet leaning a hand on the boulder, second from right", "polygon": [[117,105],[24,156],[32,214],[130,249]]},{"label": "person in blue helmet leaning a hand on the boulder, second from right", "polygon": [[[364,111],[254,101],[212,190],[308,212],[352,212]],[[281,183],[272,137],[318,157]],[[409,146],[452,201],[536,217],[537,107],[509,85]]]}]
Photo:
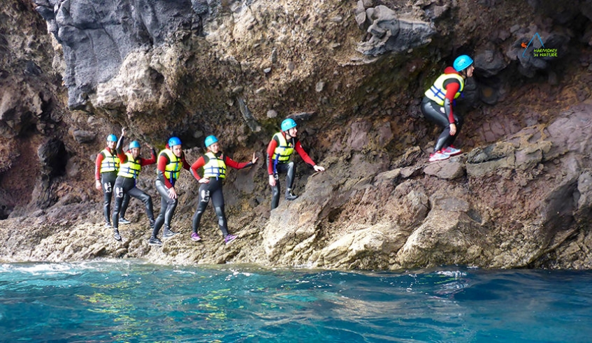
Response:
[{"label": "person in blue helmet leaning a hand on the boulder, second from right", "polygon": [[294,119],[284,119],[282,122],[282,131],[275,133],[267,145],[267,172],[269,174],[269,185],[271,186],[271,210],[280,204],[280,173],[286,173],[286,200],[296,200],[298,196],[292,193],[294,186],[294,173],[296,167],[294,161],[290,161],[290,156],[296,150],[305,163],[308,163],[317,172],[325,170],[322,166],[310,159],[310,156],[304,151],[300,140],[296,138],[298,129]]}]

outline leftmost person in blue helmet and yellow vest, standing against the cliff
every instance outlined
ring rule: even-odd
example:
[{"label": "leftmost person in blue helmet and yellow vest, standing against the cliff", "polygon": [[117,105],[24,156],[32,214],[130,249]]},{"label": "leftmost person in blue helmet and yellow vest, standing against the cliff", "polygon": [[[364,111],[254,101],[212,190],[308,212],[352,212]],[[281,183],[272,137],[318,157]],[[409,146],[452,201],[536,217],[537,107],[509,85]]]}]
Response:
[{"label": "leftmost person in blue helmet and yellow vest, standing against the cliff", "polygon": [[[103,215],[107,227],[111,227],[111,198],[113,198],[117,170],[120,168],[120,159],[115,152],[115,143],[117,143],[115,135],[107,136],[107,147],[96,155],[94,163],[94,187],[99,191],[103,190]],[[126,194],[120,211],[120,224],[129,224],[129,221],[124,218],[128,204],[129,196]]]}]

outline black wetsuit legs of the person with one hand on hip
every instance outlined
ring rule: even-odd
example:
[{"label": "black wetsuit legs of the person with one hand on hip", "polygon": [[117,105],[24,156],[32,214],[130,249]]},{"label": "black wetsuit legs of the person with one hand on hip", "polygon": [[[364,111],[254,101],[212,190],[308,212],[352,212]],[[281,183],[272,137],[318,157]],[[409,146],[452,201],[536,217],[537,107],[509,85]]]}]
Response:
[{"label": "black wetsuit legs of the person with one hand on hip", "polygon": [[222,194],[222,179],[216,180],[215,177],[210,177],[210,182],[207,184],[200,184],[199,186],[199,202],[197,203],[197,210],[193,216],[193,232],[196,233],[199,228],[201,216],[208,207],[208,202],[212,199],[212,205],[218,216],[218,226],[222,235],[228,235],[228,226],[226,224],[226,214],[224,214],[224,194]]}]

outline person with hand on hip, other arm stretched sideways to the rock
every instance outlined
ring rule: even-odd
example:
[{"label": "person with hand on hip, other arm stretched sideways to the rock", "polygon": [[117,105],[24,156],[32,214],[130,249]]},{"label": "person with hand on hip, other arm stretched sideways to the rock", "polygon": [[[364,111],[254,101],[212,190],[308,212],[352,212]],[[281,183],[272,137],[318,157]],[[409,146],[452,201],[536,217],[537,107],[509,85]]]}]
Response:
[{"label": "person with hand on hip, other arm stretched sideways to the rock", "polygon": [[[226,224],[226,214],[224,214],[224,194],[222,194],[222,180],[226,177],[226,168],[232,167],[235,169],[243,169],[252,166],[257,162],[258,157],[253,152],[253,159],[249,162],[238,163],[233,161],[229,156],[224,156],[220,151],[220,145],[218,138],[215,136],[208,136],[205,138],[205,148],[208,149],[204,156],[193,163],[191,167],[191,173],[199,182],[199,202],[197,210],[193,216],[193,232],[191,239],[198,241],[201,240],[197,230],[201,221],[201,216],[205,211],[205,207],[208,206],[208,202],[212,199],[212,205],[218,216],[218,226],[222,235],[224,236],[224,242],[229,244],[236,239],[236,235],[231,235],[228,232],[228,226]],[[203,176],[199,176],[197,170],[203,168]]]}]

